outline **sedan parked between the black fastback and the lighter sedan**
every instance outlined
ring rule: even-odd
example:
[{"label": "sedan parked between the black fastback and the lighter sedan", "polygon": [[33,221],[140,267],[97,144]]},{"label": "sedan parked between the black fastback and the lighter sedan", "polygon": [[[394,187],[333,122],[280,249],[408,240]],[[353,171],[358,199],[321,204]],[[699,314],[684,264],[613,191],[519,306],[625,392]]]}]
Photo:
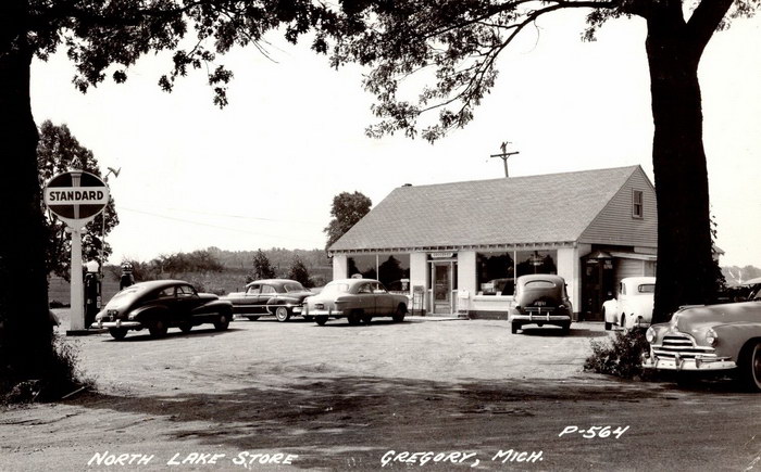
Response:
[{"label": "sedan parked between the black fastback and the lighter sedan", "polygon": [[246,285],[246,292],[234,292],[222,299],[233,304],[236,315],[250,320],[274,315],[277,321],[288,321],[291,315],[302,315],[301,306],[310,295],[314,293],[296,280],[267,279],[253,281]]}]

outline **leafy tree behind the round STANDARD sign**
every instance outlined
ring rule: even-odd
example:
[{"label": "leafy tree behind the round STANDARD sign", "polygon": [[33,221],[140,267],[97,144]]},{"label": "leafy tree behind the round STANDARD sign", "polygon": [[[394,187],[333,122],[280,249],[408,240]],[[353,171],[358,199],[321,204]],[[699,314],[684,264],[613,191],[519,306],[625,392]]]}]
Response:
[{"label": "leafy tree behind the round STANDARD sign", "polygon": [[[72,168],[80,168],[101,177],[98,160],[92,151],[79,144],[66,125],[57,126],[46,119],[39,128],[39,135],[37,167],[40,189],[53,176]],[[105,218],[105,227],[103,227],[103,218]],[[65,231],[65,224],[49,211],[45,212],[45,224],[48,233],[48,244],[45,248],[48,273],[53,272],[68,280],[72,235]],[[104,241],[104,237],[116,225],[118,225],[118,216],[114,200],[111,197],[105,209],[85,226],[82,237],[82,252],[85,260],[100,260],[101,247],[104,259],[111,255],[111,245]]]}]

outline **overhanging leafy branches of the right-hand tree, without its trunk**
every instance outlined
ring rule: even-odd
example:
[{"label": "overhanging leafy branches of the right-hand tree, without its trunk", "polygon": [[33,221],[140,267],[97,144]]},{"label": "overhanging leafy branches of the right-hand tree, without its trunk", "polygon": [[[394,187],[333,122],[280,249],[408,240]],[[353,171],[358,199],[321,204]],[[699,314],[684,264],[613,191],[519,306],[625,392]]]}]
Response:
[{"label": "overhanging leafy branches of the right-hand tree, without its trunk", "polygon": [[[345,1],[336,29],[328,30],[334,41],[330,61],[335,67],[359,63],[372,69],[363,84],[376,98],[372,110],[380,120],[366,129],[367,136],[402,131],[408,137],[421,135],[433,142],[473,119],[475,107],[495,85],[497,58],[539,17],[562,10],[589,10],[582,39],[591,41],[610,20],[681,13],[682,3],[661,0]],[[733,2],[690,3],[693,10],[704,3],[703,11],[714,9],[711,3],[715,3],[715,11],[720,12],[724,4]],[[735,1],[720,28],[726,27],[731,18],[751,15],[759,4],[760,0]],[[429,85],[408,86],[421,82],[412,80],[412,76]],[[436,112],[437,119],[434,124],[421,124],[428,112]]]}]

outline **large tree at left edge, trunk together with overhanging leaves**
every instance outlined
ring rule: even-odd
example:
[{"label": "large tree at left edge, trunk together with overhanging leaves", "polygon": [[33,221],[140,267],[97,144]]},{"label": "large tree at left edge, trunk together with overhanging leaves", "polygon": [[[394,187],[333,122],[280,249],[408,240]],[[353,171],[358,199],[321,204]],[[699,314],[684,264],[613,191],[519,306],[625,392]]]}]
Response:
[{"label": "large tree at left edge, trunk together with overhanging leaves", "polygon": [[[232,73],[216,54],[260,47],[274,28],[289,40],[333,16],[304,0],[2,0],[0,1],[0,186],[7,229],[0,231],[0,374],[7,380],[49,377],[52,330],[48,318],[47,232],[37,169],[38,132],[32,115],[33,59],[65,49],[83,92],[107,77],[127,80],[129,67],[150,52],[169,51],[171,91],[178,77],[205,73],[220,106]],[[71,80],[70,77],[60,77]],[[117,113],[117,111],[114,111]],[[8,182],[7,182],[8,183]]]}]

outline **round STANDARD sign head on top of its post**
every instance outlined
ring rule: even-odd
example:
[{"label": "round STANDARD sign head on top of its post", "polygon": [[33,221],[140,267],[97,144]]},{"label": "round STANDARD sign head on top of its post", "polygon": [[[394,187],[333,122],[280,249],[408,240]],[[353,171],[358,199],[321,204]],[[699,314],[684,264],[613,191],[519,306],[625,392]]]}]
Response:
[{"label": "round STANDARD sign head on top of its post", "polygon": [[109,188],[84,170],[59,174],[45,186],[45,204],[71,226],[84,226],[109,204]]}]

